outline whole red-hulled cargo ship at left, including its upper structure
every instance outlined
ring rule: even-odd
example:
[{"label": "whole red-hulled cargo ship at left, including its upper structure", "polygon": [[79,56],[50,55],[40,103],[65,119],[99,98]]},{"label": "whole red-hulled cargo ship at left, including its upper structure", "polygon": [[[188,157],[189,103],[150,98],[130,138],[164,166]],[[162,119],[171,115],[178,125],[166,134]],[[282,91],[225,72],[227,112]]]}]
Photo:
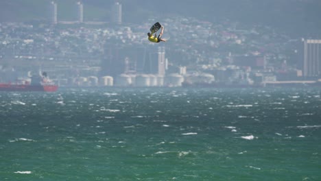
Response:
[{"label": "whole red-hulled cargo ship at left, including its upper structure", "polygon": [[14,83],[0,83],[0,91],[40,91],[55,92],[58,86],[47,77],[47,73],[32,76],[30,80],[19,80]]}]

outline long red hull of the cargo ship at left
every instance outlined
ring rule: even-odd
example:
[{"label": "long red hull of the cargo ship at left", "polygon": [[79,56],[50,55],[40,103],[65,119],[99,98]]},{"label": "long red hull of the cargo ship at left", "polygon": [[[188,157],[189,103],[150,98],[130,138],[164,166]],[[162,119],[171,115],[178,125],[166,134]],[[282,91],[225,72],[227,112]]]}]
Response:
[{"label": "long red hull of the cargo ship at left", "polygon": [[58,89],[56,85],[24,85],[24,84],[0,84],[0,91],[40,91],[55,92]]}]

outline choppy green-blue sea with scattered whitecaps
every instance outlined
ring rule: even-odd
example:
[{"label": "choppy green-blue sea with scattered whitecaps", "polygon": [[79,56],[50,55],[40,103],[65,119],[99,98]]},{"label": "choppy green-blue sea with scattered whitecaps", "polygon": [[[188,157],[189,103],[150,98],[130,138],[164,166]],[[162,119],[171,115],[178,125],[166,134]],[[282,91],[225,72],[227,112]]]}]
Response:
[{"label": "choppy green-blue sea with scattered whitecaps", "polygon": [[0,180],[321,180],[321,90],[0,93]]}]

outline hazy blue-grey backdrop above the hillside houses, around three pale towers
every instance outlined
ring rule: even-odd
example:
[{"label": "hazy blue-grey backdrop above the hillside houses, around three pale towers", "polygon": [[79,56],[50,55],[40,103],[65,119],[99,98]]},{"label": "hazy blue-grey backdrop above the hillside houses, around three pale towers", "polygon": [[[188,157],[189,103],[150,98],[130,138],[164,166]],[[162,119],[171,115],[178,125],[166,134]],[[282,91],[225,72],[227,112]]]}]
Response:
[{"label": "hazy blue-grey backdrop above the hillside houses, around three pale towers", "polygon": [[[49,19],[51,0],[1,0],[1,21]],[[77,18],[76,0],[56,0],[58,19]],[[115,0],[83,0],[85,21],[109,21]],[[321,28],[320,0],[121,0],[123,23],[143,23],[153,16],[191,16],[201,21],[230,19],[241,23],[263,24],[291,31],[318,32]],[[305,30],[306,29],[306,30]],[[319,31],[320,32],[320,31]],[[316,33],[318,34],[318,33]]]}]

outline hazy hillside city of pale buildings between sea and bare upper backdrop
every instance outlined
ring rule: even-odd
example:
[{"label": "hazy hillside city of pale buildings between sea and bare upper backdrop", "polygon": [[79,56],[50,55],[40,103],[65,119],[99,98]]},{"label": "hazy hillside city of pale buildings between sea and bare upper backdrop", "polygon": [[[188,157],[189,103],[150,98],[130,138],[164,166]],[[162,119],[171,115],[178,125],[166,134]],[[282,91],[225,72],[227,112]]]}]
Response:
[{"label": "hazy hillside city of pale buildings between sea and bare upper backdrop", "polygon": [[[302,38],[228,19],[214,24],[170,16],[160,21],[163,38],[169,40],[156,44],[147,40],[156,21],[1,23],[0,82],[16,82],[38,71],[47,72],[59,86],[135,86],[139,76],[145,84],[136,86],[261,86],[307,80],[301,69]],[[151,80],[157,77],[152,71],[157,67],[152,67],[158,61],[151,55],[157,55],[159,47],[166,58],[161,84]]]}]

